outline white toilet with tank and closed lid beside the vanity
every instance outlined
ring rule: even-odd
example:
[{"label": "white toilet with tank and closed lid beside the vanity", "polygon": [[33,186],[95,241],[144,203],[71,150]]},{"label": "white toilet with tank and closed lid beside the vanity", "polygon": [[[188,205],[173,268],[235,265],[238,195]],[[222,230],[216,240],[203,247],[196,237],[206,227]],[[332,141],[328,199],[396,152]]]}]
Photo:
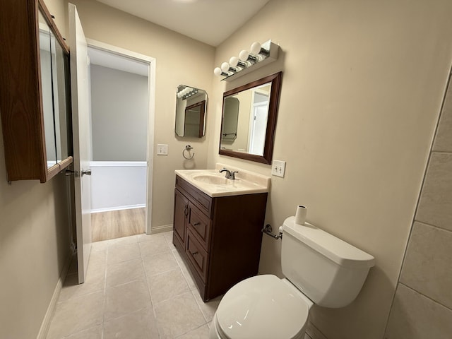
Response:
[{"label": "white toilet with tank and closed lid beside the vanity", "polygon": [[345,307],[361,290],[374,257],[295,217],[283,225],[281,264],[286,278],[256,275],[222,298],[210,339],[304,338],[309,309]]}]

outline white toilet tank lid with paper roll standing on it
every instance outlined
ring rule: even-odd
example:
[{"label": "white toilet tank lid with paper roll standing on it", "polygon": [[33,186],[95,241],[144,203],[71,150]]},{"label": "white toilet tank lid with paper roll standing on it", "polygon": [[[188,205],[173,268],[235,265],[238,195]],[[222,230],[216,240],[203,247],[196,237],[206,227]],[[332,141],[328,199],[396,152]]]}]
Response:
[{"label": "white toilet tank lid with paper roll standing on it", "polygon": [[306,222],[305,225],[298,225],[295,224],[295,217],[289,217],[284,220],[283,232],[287,232],[292,235],[292,237],[307,244],[311,249],[330,258],[340,266],[374,266],[375,259],[373,256],[344,242],[333,234],[329,234],[328,232],[309,224],[309,222]]}]

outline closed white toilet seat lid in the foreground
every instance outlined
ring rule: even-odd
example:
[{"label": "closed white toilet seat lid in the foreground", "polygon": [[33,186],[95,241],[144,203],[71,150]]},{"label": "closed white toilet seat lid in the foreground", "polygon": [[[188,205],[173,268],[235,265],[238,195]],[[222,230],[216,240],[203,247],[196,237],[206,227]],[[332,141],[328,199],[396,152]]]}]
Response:
[{"label": "closed white toilet seat lid in the foreground", "polygon": [[288,280],[256,275],[225,294],[215,327],[226,339],[303,338],[311,305]]}]

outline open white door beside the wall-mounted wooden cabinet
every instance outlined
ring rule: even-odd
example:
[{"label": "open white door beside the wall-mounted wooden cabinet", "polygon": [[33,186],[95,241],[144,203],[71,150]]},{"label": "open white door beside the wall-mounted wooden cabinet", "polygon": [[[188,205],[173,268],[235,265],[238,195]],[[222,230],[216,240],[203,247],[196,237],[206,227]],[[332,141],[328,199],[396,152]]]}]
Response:
[{"label": "open white door beside the wall-mounted wooden cabinet", "polygon": [[73,166],[75,183],[78,283],[85,281],[91,251],[91,133],[88,45],[77,8],[69,4]]}]

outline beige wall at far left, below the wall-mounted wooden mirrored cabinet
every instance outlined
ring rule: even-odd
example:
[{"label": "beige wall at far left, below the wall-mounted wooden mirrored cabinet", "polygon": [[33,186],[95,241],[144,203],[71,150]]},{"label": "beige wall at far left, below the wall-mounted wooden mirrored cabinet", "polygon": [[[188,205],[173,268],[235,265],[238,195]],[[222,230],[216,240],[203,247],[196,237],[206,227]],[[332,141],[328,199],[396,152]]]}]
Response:
[{"label": "beige wall at far left, below the wall-mounted wooden mirrored cabinet", "polygon": [[36,338],[70,256],[66,177],[6,180],[0,129],[0,338]]}]

